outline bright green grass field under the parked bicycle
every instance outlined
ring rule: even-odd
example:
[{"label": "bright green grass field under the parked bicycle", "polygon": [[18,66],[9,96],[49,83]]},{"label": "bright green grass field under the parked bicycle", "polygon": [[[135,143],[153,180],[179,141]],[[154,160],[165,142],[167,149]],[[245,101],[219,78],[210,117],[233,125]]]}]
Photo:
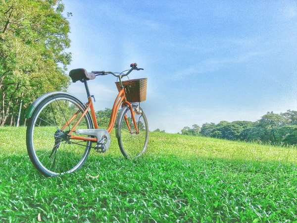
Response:
[{"label": "bright green grass field under the parked bicycle", "polygon": [[0,128],[0,222],[297,223],[296,148],[150,133],[130,161],[113,134],[105,154],[46,178],[25,131]]}]

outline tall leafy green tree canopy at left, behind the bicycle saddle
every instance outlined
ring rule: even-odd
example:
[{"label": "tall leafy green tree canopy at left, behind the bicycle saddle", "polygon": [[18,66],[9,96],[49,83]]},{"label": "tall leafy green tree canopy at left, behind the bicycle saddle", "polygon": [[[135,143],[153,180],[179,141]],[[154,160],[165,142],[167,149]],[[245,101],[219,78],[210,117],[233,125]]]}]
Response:
[{"label": "tall leafy green tree canopy at left, behind the bicycle saddle", "polygon": [[19,107],[14,102],[23,99],[26,108],[40,95],[68,87],[63,10],[60,0],[0,0],[0,125],[12,120]]}]

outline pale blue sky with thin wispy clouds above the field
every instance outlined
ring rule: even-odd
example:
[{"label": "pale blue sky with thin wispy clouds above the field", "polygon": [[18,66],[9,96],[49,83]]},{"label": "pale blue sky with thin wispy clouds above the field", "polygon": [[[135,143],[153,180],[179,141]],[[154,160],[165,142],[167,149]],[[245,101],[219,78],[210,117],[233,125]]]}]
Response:
[{"label": "pale blue sky with thin wispy clouds above the field", "polygon": [[[148,78],[149,130],[256,121],[297,110],[296,0],[64,0],[75,68]],[[112,108],[112,75],[89,81],[95,110]],[[87,101],[84,85],[68,92]]]}]

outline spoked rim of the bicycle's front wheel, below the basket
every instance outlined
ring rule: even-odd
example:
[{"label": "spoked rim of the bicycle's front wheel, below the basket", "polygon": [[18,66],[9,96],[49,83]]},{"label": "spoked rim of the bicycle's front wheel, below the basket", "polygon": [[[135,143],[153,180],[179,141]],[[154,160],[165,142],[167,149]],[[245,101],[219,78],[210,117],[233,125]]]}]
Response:
[{"label": "spoked rim of the bicycle's front wheel, below the basket", "polygon": [[121,149],[125,157],[129,159],[138,158],[145,152],[148,144],[148,121],[141,109],[139,114],[134,114],[139,130],[139,133],[137,133],[129,109],[125,112],[125,115],[127,116],[128,124],[131,127],[131,130],[128,128],[124,116],[121,121],[120,129]]}]

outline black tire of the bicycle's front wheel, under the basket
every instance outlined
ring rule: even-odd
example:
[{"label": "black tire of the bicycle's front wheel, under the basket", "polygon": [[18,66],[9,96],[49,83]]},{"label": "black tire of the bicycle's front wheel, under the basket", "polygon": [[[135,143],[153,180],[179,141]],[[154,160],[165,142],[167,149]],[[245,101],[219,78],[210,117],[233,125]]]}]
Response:
[{"label": "black tire of the bicycle's front wheel, under the basket", "polygon": [[[137,107],[137,106],[134,106],[133,105],[133,108],[135,108],[135,107]],[[146,116],[145,112],[140,107],[139,107],[139,109],[142,111],[142,115],[143,115],[143,118],[144,118],[144,121],[145,121],[145,126],[146,126],[146,141],[145,141],[143,150],[135,158],[138,158],[142,154],[144,154],[146,152],[146,150],[147,150],[147,147],[148,147],[148,133],[149,133],[148,132],[148,119],[147,119],[147,116]],[[129,158],[129,155],[127,154],[127,152],[125,151],[125,148],[123,146],[122,137],[121,137],[121,127],[122,127],[122,122],[124,120],[124,116],[125,116],[126,112],[129,112],[129,111],[130,111],[129,107],[124,107],[119,112],[119,116],[118,116],[119,117],[119,122],[118,122],[119,123],[119,125],[118,125],[118,128],[119,128],[119,137],[117,138],[120,151],[123,154],[123,156],[125,158],[127,158],[127,159],[130,159],[130,158]]]}]

